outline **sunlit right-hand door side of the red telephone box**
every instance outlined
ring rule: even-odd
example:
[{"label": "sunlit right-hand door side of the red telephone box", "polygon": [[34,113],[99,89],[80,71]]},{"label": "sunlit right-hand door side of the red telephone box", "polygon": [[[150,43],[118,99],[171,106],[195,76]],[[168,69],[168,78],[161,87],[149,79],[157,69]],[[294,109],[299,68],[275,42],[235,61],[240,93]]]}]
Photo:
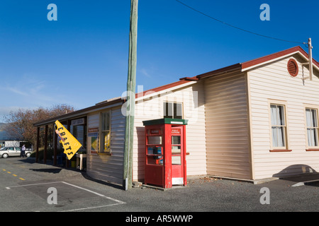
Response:
[{"label": "sunlit right-hand door side of the red telephone box", "polygon": [[172,185],[184,184],[185,179],[185,151],[183,126],[172,126]]}]

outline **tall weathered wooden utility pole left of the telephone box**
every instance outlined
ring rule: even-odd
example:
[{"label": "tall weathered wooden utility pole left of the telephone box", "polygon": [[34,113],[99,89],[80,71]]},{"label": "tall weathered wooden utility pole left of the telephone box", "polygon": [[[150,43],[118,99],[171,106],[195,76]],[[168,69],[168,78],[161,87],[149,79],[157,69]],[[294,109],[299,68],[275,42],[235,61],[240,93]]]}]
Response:
[{"label": "tall weathered wooden utility pole left of the telephone box", "polygon": [[130,1],[130,40],[128,52],[128,83],[126,96],[123,188],[132,188],[133,133],[135,115],[136,61],[138,45],[138,0]]}]

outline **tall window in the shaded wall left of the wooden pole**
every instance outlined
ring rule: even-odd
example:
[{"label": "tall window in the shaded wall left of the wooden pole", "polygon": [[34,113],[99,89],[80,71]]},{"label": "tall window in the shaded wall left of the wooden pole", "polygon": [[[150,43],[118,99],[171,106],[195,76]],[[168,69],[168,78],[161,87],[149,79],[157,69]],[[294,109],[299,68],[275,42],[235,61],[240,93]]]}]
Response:
[{"label": "tall window in the shaded wall left of the wooden pole", "polygon": [[111,112],[101,113],[101,133],[100,133],[100,147],[99,153],[110,153],[111,152]]}]

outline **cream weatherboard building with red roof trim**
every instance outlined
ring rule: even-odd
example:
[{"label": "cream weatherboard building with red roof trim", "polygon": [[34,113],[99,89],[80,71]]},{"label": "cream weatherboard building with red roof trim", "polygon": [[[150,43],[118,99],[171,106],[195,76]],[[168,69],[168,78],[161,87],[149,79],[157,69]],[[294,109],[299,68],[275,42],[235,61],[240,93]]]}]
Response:
[{"label": "cream weatherboard building with red roof trim", "polygon": [[[136,94],[133,180],[145,174],[142,121],[188,119],[187,175],[264,179],[319,171],[319,64],[301,47]],[[121,184],[125,105],[121,97],[56,119],[84,118],[86,171]]]}]

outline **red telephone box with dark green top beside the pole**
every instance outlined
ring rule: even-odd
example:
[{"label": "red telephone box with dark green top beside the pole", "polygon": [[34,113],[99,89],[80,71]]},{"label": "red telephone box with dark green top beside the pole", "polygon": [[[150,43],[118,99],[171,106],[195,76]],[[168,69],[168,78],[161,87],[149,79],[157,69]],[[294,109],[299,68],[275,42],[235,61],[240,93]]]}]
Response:
[{"label": "red telephone box with dark green top beside the pole", "polygon": [[186,186],[187,119],[143,121],[145,126],[145,184]]}]

